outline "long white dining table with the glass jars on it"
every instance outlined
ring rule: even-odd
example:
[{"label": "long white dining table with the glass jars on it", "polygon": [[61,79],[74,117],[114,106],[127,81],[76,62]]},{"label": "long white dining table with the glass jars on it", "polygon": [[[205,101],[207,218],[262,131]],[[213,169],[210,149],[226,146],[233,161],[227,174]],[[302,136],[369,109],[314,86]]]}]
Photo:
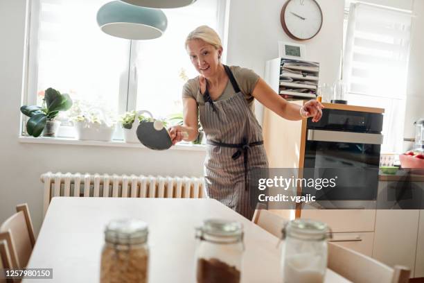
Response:
[{"label": "long white dining table with the glass jars on it", "polygon": [[[150,283],[195,282],[195,227],[206,218],[244,226],[241,282],[283,282],[279,239],[217,200],[71,197],[51,201],[27,266],[53,268],[53,280],[23,282],[99,282],[105,225],[118,218],[148,223]],[[348,280],[327,269],[324,282]]]}]

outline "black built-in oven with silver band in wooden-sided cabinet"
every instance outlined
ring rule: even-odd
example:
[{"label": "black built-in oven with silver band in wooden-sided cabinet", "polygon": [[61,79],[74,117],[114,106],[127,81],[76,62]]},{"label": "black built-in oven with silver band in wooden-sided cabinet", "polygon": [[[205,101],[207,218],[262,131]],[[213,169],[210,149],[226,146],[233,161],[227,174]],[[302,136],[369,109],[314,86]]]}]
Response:
[{"label": "black built-in oven with silver band in wooden-sided cabinet", "polygon": [[382,121],[382,114],[334,109],[308,119],[303,178],[335,178],[335,187],[303,186],[302,194],[325,208],[375,207]]}]

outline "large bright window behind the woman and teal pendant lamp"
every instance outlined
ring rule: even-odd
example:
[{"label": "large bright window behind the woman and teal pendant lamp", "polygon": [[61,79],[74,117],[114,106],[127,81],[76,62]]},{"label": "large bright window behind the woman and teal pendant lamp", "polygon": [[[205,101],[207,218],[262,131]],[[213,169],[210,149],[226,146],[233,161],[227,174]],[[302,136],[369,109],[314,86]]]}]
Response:
[{"label": "large bright window behind the woman and teal pendant lamp", "polygon": [[[184,40],[206,24],[224,41],[226,1],[198,0],[188,7],[164,9],[166,32],[145,41],[100,31],[96,14],[105,3],[32,1],[26,103],[41,105],[44,89],[53,87],[114,115],[129,110],[149,110],[155,117],[182,112],[182,85],[197,76]],[[63,128],[63,135],[73,135]]]}]

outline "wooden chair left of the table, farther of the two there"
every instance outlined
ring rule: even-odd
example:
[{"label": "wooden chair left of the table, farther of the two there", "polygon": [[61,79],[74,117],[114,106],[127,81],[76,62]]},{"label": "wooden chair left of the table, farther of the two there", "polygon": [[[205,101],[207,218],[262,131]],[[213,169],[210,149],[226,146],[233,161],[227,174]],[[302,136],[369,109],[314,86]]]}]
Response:
[{"label": "wooden chair left of the table, farther of the two there", "polygon": [[7,243],[12,268],[25,268],[35,245],[34,229],[28,205],[17,205],[16,211],[0,226],[0,241]]}]

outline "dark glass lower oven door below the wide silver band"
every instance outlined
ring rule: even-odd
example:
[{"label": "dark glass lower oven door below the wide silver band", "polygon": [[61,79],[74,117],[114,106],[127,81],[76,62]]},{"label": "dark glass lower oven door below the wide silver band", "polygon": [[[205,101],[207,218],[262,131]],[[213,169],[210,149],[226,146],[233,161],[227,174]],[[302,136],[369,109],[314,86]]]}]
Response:
[{"label": "dark glass lower oven door below the wide silver band", "polygon": [[376,200],[380,145],[329,141],[308,141],[303,176],[334,178],[337,185],[317,191],[303,187],[302,192],[317,200]]}]

